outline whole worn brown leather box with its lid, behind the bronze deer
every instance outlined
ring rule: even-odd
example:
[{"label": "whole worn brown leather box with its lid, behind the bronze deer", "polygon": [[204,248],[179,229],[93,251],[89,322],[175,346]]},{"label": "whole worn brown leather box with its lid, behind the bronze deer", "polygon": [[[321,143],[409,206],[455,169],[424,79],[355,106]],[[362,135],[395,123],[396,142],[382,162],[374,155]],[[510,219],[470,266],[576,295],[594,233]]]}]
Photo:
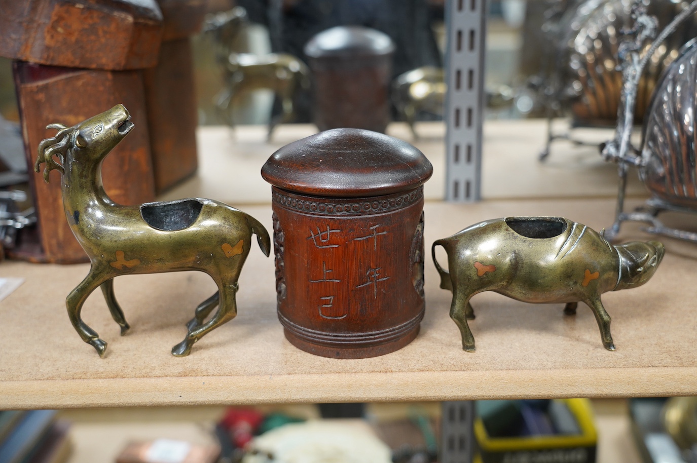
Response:
[{"label": "whole worn brown leather box with its lid, behind the bronze deer", "polygon": [[[33,166],[46,125],[74,125],[125,104],[137,130],[105,161],[104,183],[119,203],[155,197],[142,69],[158,62],[162,12],[155,0],[0,0],[0,56],[14,74],[27,163]],[[14,258],[87,259],[63,213],[56,174],[32,176],[38,229],[22,230]]]}]

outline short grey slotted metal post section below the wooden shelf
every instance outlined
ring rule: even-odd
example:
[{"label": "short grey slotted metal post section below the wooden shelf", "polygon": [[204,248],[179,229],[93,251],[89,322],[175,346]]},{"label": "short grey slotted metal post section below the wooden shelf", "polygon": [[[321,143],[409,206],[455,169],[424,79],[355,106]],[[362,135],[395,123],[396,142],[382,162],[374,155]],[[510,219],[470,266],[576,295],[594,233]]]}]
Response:
[{"label": "short grey slotted metal post section below the wooden shelf", "polygon": [[474,400],[441,403],[441,463],[472,463]]}]

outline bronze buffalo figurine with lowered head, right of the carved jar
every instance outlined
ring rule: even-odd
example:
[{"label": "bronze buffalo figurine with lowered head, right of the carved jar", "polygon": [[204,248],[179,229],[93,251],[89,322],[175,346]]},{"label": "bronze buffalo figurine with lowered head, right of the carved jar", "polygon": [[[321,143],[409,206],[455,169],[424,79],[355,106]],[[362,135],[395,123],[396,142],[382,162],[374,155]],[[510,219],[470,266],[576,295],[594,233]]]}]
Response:
[{"label": "bronze buffalo figurine with lowered head, right of the carved jar", "polygon": [[[438,265],[436,246],[447,252],[450,273]],[[574,315],[583,301],[595,315],[603,345],[615,350],[600,295],[646,283],[664,246],[657,241],[613,246],[587,226],[561,217],[507,217],[438,240],[431,252],[441,288],[452,291],[450,317],[460,329],[464,350],[475,350],[467,323],[475,317],[470,298],[484,291],[523,302],[566,303],[567,315]]]}]

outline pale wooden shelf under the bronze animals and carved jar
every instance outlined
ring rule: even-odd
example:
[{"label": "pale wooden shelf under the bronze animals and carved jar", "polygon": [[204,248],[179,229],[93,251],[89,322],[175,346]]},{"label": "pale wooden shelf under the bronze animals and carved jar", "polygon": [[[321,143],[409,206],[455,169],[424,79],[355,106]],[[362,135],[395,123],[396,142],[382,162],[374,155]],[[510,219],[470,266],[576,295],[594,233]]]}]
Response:
[{"label": "pale wooden shelf under the bronze animals and carved jar", "polygon": [[[243,207],[270,229],[270,206]],[[560,215],[599,230],[613,199],[440,202],[425,207],[427,246],[484,219]],[[649,239],[627,226],[623,239]],[[87,265],[3,262],[0,277],[26,278],[0,303],[0,408],[380,402],[495,398],[612,398],[697,395],[697,246],[666,242],[652,281],[604,295],[618,347],[602,347],[590,309],[523,304],[494,293],[473,298],[477,352],[461,350],[448,317],[450,292],[426,262],[427,313],[418,338],[373,359],[325,359],[283,336],[275,315],[273,258],[250,253],[238,292],[238,317],[185,358],[169,350],[185,335],[199,301],[215,291],[197,272],[123,276],[116,296],[132,330],[118,336],[100,292],[84,320],[107,340],[100,359],[70,326],[64,300]]]}]

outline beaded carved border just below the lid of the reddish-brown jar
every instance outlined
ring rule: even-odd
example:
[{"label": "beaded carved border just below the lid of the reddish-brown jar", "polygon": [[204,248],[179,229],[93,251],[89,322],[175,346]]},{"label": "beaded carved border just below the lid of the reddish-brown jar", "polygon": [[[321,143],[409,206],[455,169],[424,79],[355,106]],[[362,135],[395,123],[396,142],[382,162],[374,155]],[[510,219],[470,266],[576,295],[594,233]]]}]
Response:
[{"label": "beaded carved border just below the lid of the reddish-brown jar", "polygon": [[273,203],[288,210],[319,215],[367,215],[399,210],[421,201],[424,187],[375,198],[310,198],[273,188]]}]

